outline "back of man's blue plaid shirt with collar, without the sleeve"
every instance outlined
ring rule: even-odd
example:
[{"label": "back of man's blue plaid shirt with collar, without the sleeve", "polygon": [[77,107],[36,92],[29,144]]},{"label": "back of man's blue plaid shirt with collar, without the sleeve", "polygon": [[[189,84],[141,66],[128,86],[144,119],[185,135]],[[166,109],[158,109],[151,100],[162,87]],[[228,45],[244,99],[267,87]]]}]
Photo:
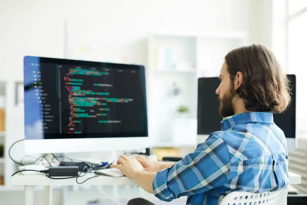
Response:
[{"label": "back of man's blue plaid shirt with collar, without the sleeve", "polygon": [[[255,118],[251,119],[253,115]],[[272,114],[246,112],[223,120],[226,130],[216,134],[227,144],[231,179],[223,186],[207,191],[207,204],[214,204],[223,198],[222,195],[235,190],[262,193],[287,186],[286,138],[273,123],[273,116],[269,117],[271,120],[267,120],[267,116]],[[247,121],[241,121],[243,119]],[[231,126],[231,122],[239,124]]]}]

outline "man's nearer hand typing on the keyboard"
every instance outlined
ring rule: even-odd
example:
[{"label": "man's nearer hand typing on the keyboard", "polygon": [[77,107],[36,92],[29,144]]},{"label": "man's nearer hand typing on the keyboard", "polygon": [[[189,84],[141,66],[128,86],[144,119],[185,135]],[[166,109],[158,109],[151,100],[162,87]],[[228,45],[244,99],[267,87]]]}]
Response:
[{"label": "man's nearer hand typing on the keyboard", "polygon": [[139,163],[138,160],[127,157],[126,155],[120,156],[120,158],[117,160],[117,164],[111,164],[110,167],[118,168],[126,177],[130,179],[134,179],[138,171],[144,170],[142,164]]}]

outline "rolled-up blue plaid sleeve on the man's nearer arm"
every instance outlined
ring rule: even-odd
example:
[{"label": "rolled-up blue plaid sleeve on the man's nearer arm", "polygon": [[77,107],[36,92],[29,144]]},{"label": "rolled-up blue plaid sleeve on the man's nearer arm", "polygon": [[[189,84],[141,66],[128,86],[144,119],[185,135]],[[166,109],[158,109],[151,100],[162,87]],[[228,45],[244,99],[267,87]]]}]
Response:
[{"label": "rolled-up blue plaid sleeve on the man's nearer arm", "polygon": [[229,171],[227,145],[222,138],[212,135],[194,153],[159,171],[153,179],[153,194],[160,200],[171,201],[204,192],[226,183]]}]

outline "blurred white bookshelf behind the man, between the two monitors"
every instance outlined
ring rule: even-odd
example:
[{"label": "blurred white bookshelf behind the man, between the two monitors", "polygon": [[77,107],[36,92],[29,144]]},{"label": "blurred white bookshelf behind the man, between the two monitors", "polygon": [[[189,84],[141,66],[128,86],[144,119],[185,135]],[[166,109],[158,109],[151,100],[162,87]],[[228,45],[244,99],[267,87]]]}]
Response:
[{"label": "blurred white bookshelf behind the man, between the two monitors", "polygon": [[[247,44],[247,33],[227,31],[153,31],[148,40],[147,96],[149,134],[156,147],[174,147],[172,123],[179,105],[197,118],[199,77],[217,77],[224,56]],[[173,84],[180,89],[174,96]],[[173,87],[172,87],[173,86]],[[196,136],[187,136],[196,138]],[[182,147],[194,146],[182,144]]]}]

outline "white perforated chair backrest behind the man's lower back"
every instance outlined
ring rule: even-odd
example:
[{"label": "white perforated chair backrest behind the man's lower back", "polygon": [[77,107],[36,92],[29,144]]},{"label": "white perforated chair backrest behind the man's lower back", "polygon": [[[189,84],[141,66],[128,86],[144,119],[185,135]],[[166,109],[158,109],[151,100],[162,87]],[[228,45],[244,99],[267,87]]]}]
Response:
[{"label": "white perforated chair backrest behind the man's lower back", "polygon": [[246,191],[233,191],[227,194],[219,205],[281,205],[286,204],[288,188],[264,193],[249,193]]}]

